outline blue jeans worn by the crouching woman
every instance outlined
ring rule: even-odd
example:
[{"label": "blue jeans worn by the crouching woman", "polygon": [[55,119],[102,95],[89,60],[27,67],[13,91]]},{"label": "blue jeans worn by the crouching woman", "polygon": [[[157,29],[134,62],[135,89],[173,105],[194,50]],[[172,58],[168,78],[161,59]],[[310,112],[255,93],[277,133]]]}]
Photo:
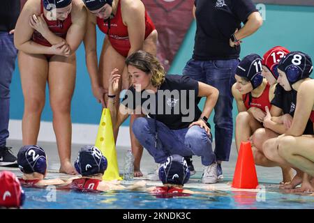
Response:
[{"label": "blue jeans worn by the crouching woman", "polygon": [[157,148],[155,148],[155,120],[153,118],[136,118],[133,132],[140,144],[154,157],[156,163],[163,163],[170,155],[197,155],[202,157],[202,164],[209,166],[216,161],[211,149],[211,138],[200,126],[170,130],[157,121]]}]

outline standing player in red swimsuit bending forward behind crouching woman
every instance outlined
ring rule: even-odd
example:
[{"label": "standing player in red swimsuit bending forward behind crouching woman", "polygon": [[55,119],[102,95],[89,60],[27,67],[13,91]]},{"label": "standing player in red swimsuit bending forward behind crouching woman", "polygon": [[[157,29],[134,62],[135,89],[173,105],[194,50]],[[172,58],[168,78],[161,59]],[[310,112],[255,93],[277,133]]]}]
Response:
[{"label": "standing player in red swimsuit bending forward behind crouching woman", "polygon": [[[84,37],[87,69],[91,78],[91,86],[95,98],[103,104],[107,102],[110,72],[117,68],[123,71],[120,88],[128,89],[130,79],[124,61],[126,57],[139,49],[143,49],[156,56],[157,31],[153,22],[140,0],[84,0],[89,9],[87,15],[87,33]],[[100,61],[97,61],[96,25],[105,33]],[[117,109],[119,107],[119,93],[116,97]],[[132,115],[130,126],[140,115]],[[117,139],[118,126],[114,126],[114,136]],[[134,176],[142,176],[140,160],[142,146],[134,137],[130,128],[130,139],[134,161]]]}]

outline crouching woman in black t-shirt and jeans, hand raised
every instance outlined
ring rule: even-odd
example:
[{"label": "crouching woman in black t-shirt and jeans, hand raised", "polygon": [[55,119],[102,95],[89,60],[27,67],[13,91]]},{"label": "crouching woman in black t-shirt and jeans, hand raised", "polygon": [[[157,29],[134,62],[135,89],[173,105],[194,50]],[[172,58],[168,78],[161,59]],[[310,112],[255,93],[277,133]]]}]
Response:
[{"label": "crouching woman in black t-shirt and jeans, hand raised", "polygon": [[[143,112],[149,117],[137,118],[133,132],[140,144],[162,164],[170,155],[197,155],[204,165],[203,183],[217,182],[216,157],[211,149],[210,125],[207,123],[218,99],[218,90],[190,77],[166,75],[156,57],[137,51],[126,59],[132,86],[119,111],[114,96],[121,78],[119,70],[110,75],[108,107],[112,125],[119,128],[129,114]],[[197,98],[206,97],[203,112]]]}]

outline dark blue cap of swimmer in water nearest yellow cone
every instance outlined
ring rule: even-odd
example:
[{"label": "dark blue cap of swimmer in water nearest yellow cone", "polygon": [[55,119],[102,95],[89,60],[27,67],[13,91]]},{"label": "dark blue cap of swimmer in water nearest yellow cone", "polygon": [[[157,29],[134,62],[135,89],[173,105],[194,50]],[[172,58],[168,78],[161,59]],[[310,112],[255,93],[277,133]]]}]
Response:
[{"label": "dark blue cap of swimmer in water nearest yellow cone", "polygon": [[107,159],[96,146],[84,146],[74,162],[74,167],[82,176],[103,174],[107,169]]}]

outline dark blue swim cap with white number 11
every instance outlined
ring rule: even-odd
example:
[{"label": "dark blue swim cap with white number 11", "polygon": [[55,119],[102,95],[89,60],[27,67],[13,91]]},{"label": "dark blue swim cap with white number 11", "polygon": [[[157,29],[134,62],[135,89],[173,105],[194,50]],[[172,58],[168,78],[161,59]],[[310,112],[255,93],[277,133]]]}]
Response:
[{"label": "dark blue swim cap with white number 11", "polygon": [[257,86],[260,86],[263,82],[262,58],[257,54],[245,56],[237,67],[236,75],[248,79],[253,89],[256,89]]}]

